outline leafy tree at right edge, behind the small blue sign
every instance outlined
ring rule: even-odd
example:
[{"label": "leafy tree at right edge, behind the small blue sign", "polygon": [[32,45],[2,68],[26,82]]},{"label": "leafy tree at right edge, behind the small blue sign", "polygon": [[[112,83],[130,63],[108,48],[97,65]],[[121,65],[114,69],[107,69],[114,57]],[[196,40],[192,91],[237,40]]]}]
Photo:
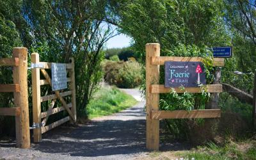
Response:
[{"label": "leafy tree at right edge, behind the small blue sign", "polygon": [[[225,0],[224,19],[232,37],[234,58],[223,68],[223,82],[230,83],[248,93],[253,88],[253,73],[256,69],[256,10],[255,1]],[[234,75],[240,70],[246,74]]]}]

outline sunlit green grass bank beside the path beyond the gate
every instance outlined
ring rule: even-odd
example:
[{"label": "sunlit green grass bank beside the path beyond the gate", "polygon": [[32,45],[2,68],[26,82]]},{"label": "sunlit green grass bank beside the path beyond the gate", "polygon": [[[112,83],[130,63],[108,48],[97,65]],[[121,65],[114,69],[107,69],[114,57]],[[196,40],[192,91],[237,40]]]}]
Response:
[{"label": "sunlit green grass bank beside the path beyond the gate", "polygon": [[111,115],[134,106],[137,101],[115,87],[102,87],[95,93],[86,109],[89,118]]}]

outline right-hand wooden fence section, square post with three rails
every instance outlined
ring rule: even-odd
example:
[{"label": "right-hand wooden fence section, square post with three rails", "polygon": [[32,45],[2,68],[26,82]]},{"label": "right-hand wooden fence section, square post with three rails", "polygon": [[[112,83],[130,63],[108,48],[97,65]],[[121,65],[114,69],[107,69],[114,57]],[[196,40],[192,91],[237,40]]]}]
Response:
[{"label": "right-hand wooden fence section, square post with three rails", "polygon": [[[202,61],[200,57],[166,57],[160,56],[160,44],[146,44],[146,106],[147,106],[147,149],[159,150],[159,119],[173,118],[217,118],[220,109],[195,109],[190,112],[185,110],[159,111],[159,93],[170,93],[171,88],[159,84],[159,66],[165,61]],[[224,65],[223,58],[214,58],[213,65]],[[207,92],[222,92],[221,84],[207,84]],[[200,93],[200,88],[174,88],[177,93]]]}]

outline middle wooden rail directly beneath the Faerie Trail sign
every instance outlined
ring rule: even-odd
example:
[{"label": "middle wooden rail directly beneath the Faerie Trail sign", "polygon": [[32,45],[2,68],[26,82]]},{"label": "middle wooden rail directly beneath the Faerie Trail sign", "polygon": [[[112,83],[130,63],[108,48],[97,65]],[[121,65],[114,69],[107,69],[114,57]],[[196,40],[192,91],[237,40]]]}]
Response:
[{"label": "middle wooden rail directly beneath the Faerie Trail sign", "polygon": [[[185,90],[181,90],[180,88],[174,88],[177,93],[201,93],[202,90],[200,87],[188,87]],[[222,85],[221,84],[207,84],[206,90],[209,93],[219,93],[222,92]],[[171,88],[165,88],[163,84],[151,84],[149,88],[150,93],[170,93]]]}]

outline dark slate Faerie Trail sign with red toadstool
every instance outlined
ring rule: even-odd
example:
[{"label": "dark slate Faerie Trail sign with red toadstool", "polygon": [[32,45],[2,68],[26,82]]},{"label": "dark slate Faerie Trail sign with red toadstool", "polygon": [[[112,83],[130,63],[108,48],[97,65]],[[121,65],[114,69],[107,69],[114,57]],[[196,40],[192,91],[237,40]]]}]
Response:
[{"label": "dark slate Faerie Trail sign with red toadstool", "polygon": [[200,61],[166,61],[164,70],[165,87],[199,87],[198,84],[206,83]]}]

